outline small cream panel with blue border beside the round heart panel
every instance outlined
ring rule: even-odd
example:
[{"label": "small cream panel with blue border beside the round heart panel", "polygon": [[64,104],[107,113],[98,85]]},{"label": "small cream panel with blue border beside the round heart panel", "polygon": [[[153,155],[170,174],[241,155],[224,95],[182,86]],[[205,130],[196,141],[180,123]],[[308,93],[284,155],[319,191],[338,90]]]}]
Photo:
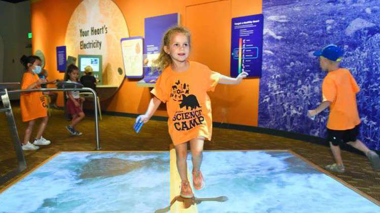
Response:
[{"label": "small cream panel with blue border beside the round heart panel", "polygon": [[124,61],[125,76],[127,78],[143,77],[143,38],[123,38],[120,41]]}]

